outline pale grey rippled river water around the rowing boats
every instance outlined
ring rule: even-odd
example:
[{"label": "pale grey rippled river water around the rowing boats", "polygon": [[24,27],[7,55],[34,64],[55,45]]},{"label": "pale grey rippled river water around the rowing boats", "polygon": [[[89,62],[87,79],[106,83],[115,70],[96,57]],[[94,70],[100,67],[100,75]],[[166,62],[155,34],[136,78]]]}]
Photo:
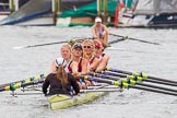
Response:
[{"label": "pale grey rippled river water around the rowing boats", "polygon": [[[105,50],[110,55],[109,67],[127,71],[143,71],[150,75],[176,80],[177,30],[144,30],[109,27],[110,33],[158,43],[125,40]],[[0,84],[48,73],[52,59],[59,57],[61,45],[15,49],[44,43],[91,37],[90,27],[21,27],[0,26]],[[117,39],[109,36],[109,40]],[[176,118],[177,97],[125,90],[82,106],[62,110],[46,107],[43,94],[17,95],[0,93],[0,113],[4,118]]]}]

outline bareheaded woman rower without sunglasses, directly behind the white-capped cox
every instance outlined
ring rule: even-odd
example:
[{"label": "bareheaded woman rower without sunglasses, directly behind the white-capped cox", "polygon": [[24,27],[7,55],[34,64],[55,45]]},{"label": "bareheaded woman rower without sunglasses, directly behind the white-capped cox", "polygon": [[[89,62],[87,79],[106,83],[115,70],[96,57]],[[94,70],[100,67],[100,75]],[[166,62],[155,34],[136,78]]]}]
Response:
[{"label": "bareheaded woman rower without sunglasses, directly behind the white-capped cox", "polygon": [[[71,46],[68,44],[63,45],[60,49],[60,54],[63,58],[62,64],[64,66],[66,72],[70,72],[70,73],[78,72],[78,63],[71,60]],[[60,58],[57,58],[52,61],[51,72],[56,72],[57,70],[56,63],[58,63],[58,59],[60,60]]]}]

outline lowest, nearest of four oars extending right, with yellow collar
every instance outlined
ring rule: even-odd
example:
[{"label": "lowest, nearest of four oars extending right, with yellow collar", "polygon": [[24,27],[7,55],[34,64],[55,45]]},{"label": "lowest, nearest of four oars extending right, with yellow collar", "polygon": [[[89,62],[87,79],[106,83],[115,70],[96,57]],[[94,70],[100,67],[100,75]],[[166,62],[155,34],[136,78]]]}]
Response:
[{"label": "lowest, nearest of four oars extending right, with yellow collar", "polygon": [[101,78],[93,78],[93,76],[88,76],[88,75],[84,75],[84,76],[82,76],[82,79],[90,80],[90,81],[102,82],[102,83],[108,83],[110,85],[120,86],[122,88],[137,88],[137,90],[144,90],[144,91],[149,91],[149,92],[155,92],[155,93],[162,93],[162,94],[166,94],[166,95],[177,96],[177,94],[173,93],[173,92],[166,92],[166,91],[162,91],[162,90],[154,90],[154,88],[149,88],[149,87],[143,87],[143,86],[135,86],[135,85],[125,83],[121,80],[120,81],[113,81],[113,80],[106,80],[106,79],[101,79]]}]

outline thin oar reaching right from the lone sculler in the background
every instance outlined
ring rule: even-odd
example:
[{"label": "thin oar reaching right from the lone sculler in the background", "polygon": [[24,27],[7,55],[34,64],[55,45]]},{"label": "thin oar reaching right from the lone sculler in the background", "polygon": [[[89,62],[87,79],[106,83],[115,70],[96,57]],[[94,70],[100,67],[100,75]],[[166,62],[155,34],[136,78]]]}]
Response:
[{"label": "thin oar reaching right from the lone sculler in the background", "polygon": [[148,42],[148,40],[131,38],[131,37],[128,37],[128,36],[121,36],[121,35],[117,35],[117,34],[113,34],[113,33],[109,33],[109,35],[117,36],[117,37],[122,37],[122,38],[125,38],[125,39],[130,39],[130,40],[138,40],[138,42],[141,42],[141,43],[148,43],[148,44],[153,44],[153,45],[160,45],[158,43],[152,43],[152,42]]}]

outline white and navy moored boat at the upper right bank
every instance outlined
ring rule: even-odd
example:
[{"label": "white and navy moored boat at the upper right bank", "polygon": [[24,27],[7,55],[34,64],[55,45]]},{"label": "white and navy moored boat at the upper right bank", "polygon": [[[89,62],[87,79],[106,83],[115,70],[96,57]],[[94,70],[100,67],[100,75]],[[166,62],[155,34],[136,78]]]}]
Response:
[{"label": "white and navy moored boat at the upper right bank", "polygon": [[177,2],[174,0],[137,0],[132,9],[120,9],[119,27],[176,27]]}]

